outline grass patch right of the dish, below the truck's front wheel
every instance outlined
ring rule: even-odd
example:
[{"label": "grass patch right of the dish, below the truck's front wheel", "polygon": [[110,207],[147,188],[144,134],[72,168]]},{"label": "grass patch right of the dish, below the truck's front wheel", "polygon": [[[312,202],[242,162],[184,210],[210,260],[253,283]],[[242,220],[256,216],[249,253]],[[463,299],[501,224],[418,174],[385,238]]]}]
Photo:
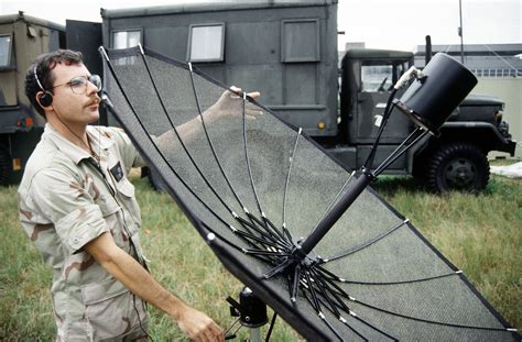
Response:
[{"label": "grass patch right of the dish, below the truck's front wheel", "polygon": [[522,180],[492,176],[480,195],[435,196],[411,178],[376,189],[464,271],[514,327],[522,327]]}]

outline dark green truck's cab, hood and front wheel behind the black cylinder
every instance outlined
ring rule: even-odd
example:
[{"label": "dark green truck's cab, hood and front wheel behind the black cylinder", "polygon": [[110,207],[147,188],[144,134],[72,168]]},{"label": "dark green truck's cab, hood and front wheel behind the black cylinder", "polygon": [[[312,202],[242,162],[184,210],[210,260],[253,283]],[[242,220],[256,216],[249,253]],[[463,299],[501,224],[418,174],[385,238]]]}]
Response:
[{"label": "dark green truck's cab, hood and front wheel behind the black cylinder", "polygon": [[[413,65],[413,53],[350,49],[341,63],[340,136],[331,152],[361,167],[374,141],[392,86]],[[395,97],[400,98],[401,92]],[[515,142],[502,121],[504,103],[493,97],[469,96],[441,128],[395,161],[388,173],[412,174],[431,189],[479,191],[489,179],[490,151],[514,155]],[[413,123],[394,110],[374,161],[379,165],[412,132]]]}]

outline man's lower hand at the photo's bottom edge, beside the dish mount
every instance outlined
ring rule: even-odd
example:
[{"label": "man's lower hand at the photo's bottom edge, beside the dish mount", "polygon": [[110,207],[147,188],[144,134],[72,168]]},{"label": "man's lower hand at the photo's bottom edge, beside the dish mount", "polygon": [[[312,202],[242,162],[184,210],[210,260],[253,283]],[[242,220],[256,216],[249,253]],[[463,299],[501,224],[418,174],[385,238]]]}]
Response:
[{"label": "man's lower hand at the photo's bottom edge, beside the dish mount", "polygon": [[225,341],[221,328],[205,313],[186,307],[177,318],[180,329],[194,341]]}]

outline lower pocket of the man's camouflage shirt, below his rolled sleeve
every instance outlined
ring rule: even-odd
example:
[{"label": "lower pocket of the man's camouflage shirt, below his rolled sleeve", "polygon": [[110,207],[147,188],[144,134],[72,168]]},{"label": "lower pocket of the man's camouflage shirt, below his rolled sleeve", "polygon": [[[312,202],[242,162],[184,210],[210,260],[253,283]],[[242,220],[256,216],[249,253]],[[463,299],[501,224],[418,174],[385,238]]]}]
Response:
[{"label": "lower pocket of the man's camouflage shirt, below his rolled sleeve", "polygon": [[115,338],[132,328],[132,295],[123,284],[111,278],[80,289],[95,340]]}]

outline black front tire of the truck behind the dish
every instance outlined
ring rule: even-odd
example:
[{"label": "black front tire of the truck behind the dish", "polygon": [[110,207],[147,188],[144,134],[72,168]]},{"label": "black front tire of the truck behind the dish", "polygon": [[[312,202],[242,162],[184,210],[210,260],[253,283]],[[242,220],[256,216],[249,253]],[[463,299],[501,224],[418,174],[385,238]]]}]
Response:
[{"label": "black front tire of the truck behind the dish", "polygon": [[475,145],[452,143],[441,146],[427,165],[427,185],[436,192],[458,190],[476,194],[489,180],[489,163]]}]

